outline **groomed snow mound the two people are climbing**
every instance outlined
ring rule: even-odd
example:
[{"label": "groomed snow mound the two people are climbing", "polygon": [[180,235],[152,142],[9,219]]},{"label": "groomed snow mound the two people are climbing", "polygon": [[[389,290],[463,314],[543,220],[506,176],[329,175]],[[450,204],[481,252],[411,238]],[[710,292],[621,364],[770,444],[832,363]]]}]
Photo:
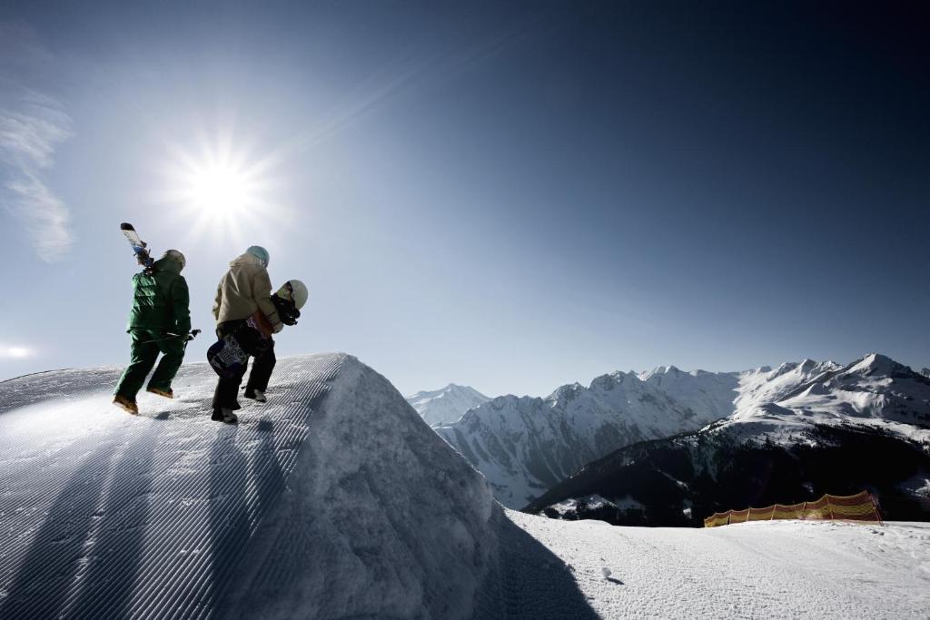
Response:
[{"label": "groomed snow mound the two people are climbing", "polygon": [[[279,361],[236,427],[206,364],[138,417],[117,376],[0,383],[0,617],[530,617],[551,553],[356,359]],[[559,593],[551,617],[591,615]]]}]

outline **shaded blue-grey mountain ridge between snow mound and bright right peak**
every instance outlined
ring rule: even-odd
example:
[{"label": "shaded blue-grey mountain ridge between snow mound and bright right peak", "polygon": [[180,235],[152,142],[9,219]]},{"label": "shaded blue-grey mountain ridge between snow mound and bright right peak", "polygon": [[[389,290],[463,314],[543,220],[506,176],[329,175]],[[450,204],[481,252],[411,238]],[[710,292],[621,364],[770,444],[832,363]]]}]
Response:
[{"label": "shaded blue-grey mountain ridge between snow mound and bright right peak", "polygon": [[732,412],[735,373],[616,372],[546,398],[501,396],[436,428],[491,482],[498,501],[523,508],[592,460],[622,446],[699,429]]}]

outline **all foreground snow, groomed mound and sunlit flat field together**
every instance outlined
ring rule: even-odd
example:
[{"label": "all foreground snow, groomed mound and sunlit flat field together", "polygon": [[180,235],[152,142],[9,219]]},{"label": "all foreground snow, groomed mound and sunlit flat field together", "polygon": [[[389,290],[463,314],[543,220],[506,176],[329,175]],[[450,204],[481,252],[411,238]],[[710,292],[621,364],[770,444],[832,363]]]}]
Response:
[{"label": "all foreground snow, groomed mound and sunlit flat field together", "polygon": [[505,510],[351,356],[280,360],[209,419],[215,376],[110,403],[119,369],[0,383],[0,617],[920,617],[930,529],[618,528]]}]

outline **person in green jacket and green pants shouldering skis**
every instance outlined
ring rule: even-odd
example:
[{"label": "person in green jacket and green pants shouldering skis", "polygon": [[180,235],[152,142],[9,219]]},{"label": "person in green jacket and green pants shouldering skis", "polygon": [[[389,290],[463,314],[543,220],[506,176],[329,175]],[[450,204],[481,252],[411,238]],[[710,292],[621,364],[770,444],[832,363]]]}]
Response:
[{"label": "person in green jacket and green pants shouldering skis", "polygon": [[138,414],[136,394],[145,377],[158,363],[147,391],[174,398],[171,380],[184,359],[184,349],[191,331],[190,295],[187,281],[180,271],[186,261],[178,250],[168,250],[156,260],[151,273],[142,271],[132,278],[132,311],[126,331],[132,336],[132,359],[116,386],[113,404],[130,414]]}]

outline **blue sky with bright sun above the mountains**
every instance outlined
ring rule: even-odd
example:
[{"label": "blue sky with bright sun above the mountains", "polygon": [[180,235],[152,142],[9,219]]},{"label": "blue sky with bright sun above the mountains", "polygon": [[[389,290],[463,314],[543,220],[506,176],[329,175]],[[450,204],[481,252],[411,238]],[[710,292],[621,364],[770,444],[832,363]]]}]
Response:
[{"label": "blue sky with bright sun above the mountains", "polygon": [[136,4],[0,8],[0,377],[126,363],[121,221],[207,332],[266,246],[311,289],[280,353],[405,392],[930,365],[926,9]]}]

